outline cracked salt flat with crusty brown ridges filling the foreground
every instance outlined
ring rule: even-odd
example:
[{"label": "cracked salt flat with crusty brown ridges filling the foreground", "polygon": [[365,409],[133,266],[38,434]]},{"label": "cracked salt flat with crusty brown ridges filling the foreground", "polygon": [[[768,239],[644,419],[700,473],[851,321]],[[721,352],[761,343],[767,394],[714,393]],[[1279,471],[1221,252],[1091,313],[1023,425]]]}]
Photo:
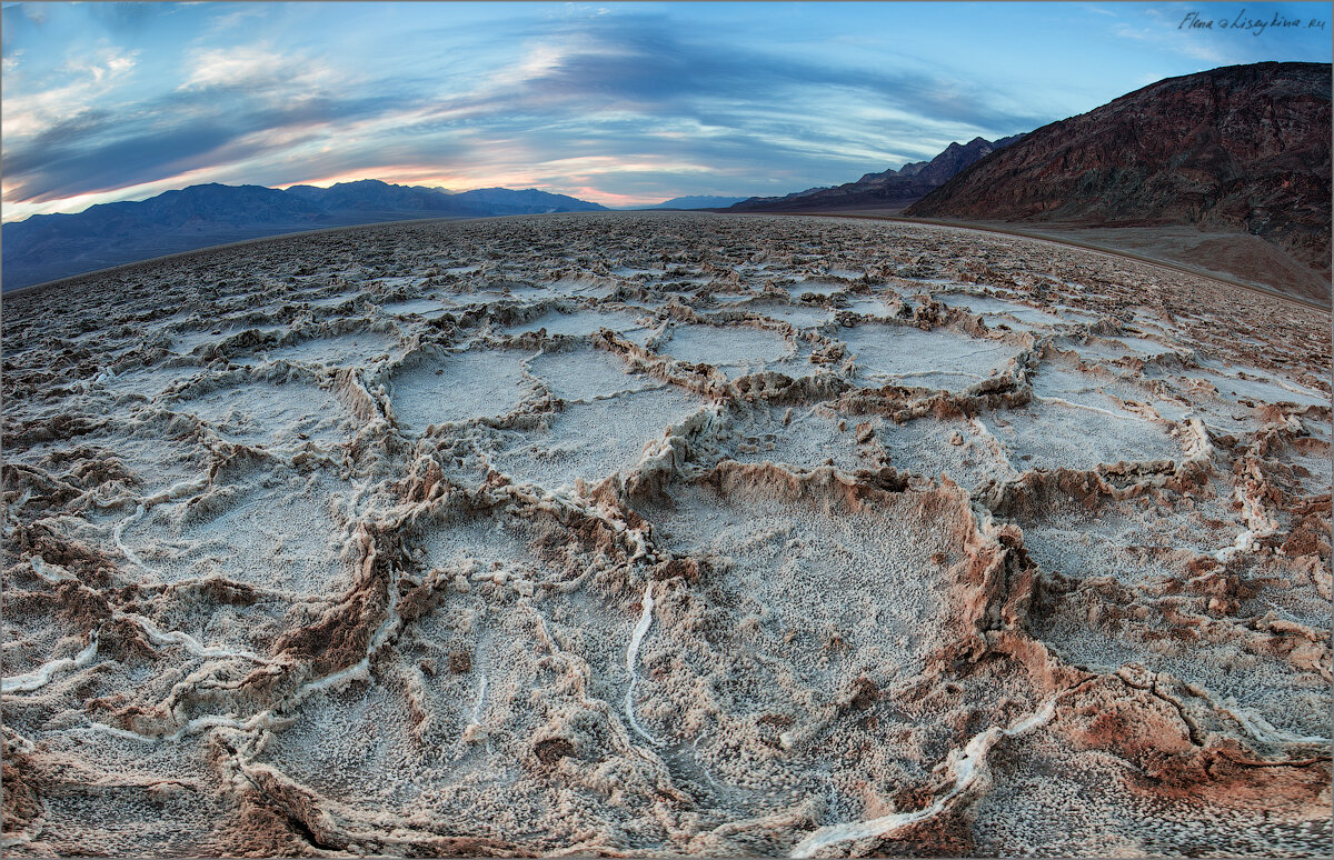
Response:
[{"label": "cracked salt flat with crusty brown ridges filling the foreground", "polygon": [[1327,313],[691,213],[5,305],[7,853],[1331,847]]}]

